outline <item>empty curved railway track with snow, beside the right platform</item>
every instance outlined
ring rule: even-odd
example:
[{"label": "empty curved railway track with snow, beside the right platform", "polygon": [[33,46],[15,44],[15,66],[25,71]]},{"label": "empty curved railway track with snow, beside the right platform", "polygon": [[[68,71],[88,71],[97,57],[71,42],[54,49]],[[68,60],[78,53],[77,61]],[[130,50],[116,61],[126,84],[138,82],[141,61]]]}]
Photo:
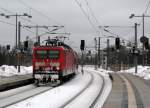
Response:
[{"label": "empty curved railway track with snow, beside the right platform", "polygon": [[[72,103],[74,103],[75,100],[78,100],[79,98],[83,99],[81,95],[84,95],[85,93],[89,94],[88,91],[90,91],[91,88],[93,88],[93,85],[94,86],[97,86],[97,93],[93,96],[93,100],[92,102],[90,102],[90,104],[88,104],[88,106],[86,105],[86,107],[89,107],[89,108],[94,108],[95,105],[99,102],[99,98],[104,90],[104,86],[105,86],[105,80],[104,80],[104,77],[102,75],[100,75],[99,73],[92,73],[92,72],[88,72],[90,75],[91,75],[91,80],[90,82],[77,94],[75,95],[74,97],[72,97],[70,100],[68,100],[67,102],[65,102],[61,108],[69,108],[69,107],[75,107],[75,105],[70,105]],[[96,78],[97,77],[97,78]],[[100,86],[97,85],[97,81],[95,79],[98,80],[98,77],[99,77],[99,80],[101,83]],[[90,95],[90,94],[89,94]],[[84,98],[86,99],[86,98]],[[78,100],[79,101],[79,100]],[[80,101],[80,103],[82,103]]]}]

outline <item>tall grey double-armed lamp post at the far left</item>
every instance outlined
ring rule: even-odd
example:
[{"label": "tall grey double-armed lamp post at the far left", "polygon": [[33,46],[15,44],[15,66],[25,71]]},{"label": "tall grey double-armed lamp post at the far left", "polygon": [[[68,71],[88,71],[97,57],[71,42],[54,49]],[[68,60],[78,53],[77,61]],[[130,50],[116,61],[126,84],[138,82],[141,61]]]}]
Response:
[{"label": "tall grey double-armed lamp post at the far left", "polygon": [[16,18],[16,48],[17,48],[17,38],[18,38],[18,17],[20,16],[27,16],[28,18],[32,18],[31,15],[28,15],[27,13],[24,14],[12,14],[12,15],[7,15],[4,13],[0,14],[1,16],[5,16],[6,18],[10,18],[10,17],[15,17]]}]

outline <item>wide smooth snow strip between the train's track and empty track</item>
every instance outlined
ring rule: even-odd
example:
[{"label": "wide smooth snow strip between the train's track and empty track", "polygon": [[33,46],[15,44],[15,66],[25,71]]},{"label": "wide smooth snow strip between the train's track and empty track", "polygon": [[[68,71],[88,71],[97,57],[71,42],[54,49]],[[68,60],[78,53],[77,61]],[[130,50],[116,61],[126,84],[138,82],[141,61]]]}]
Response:
[{"label": "wide smooth snow strip between the train's track and empty track", "polygon": [[90,74],[78,74],[72,81],[50,91],[29,98],[8,108],[59,108],[74,97],[91,80]]}]

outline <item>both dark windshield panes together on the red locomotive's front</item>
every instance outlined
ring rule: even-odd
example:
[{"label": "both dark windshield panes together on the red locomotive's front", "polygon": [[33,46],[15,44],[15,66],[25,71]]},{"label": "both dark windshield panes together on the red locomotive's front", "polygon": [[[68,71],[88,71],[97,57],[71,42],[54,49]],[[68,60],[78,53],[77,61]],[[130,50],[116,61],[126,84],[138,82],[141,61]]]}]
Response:
[{"label": "both dark windshield panes together on the red locomotive's front", "polygon": [[37,50],[36,51],[37,59],[57,59],[59,58],[58,50]]}]

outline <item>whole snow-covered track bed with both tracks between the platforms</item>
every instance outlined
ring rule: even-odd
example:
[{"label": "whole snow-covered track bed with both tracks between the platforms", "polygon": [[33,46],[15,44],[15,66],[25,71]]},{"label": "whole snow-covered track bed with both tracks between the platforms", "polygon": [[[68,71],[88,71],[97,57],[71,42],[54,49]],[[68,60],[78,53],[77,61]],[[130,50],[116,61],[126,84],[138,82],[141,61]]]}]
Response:
[{"label": "whole snow-covered track bed with both tracks between the platforms", "polygon": [[[98,103],[103,103],[103,100],[105,101],[104,93],[107,89],[105,86],[105,83],[107,85],[107,81],[105,81],[105,79],[106,78],[100,73],[89,70],[85,72],[84,75],[79,74],[72,81],[56,87],[55,89],[52,87],[36,87],[32,85],[28,89],[18,90],[18,92],[12,94],[8,93],[9,95],[4,96],[0,93],[0,103],[2,103],[0,107],[18,107],[18,105],[22,107],[31,103],[31,106],[36,108],[35,100],[38,100],[39,103],[41,101],[45,102],[40,99],[47,100],[47,98],[53,97],[54,100],[48,102],[48,106],[53,106],[53,108],[76,108],[77,106],[82,108],[98,108]],[[74,87],[75,89],[72,89]],[[69,92],[65,93],[66,90]],[[5,92],[5,94],[7,93]],[[61,97],[58,98],[58,96]],[[57,101],[59,101],[59,103]],[[41,104],[45,106],[46,103],[43,104],[43,102]],[[55,104],[55,102],[57,102],[57,104]]]}]

